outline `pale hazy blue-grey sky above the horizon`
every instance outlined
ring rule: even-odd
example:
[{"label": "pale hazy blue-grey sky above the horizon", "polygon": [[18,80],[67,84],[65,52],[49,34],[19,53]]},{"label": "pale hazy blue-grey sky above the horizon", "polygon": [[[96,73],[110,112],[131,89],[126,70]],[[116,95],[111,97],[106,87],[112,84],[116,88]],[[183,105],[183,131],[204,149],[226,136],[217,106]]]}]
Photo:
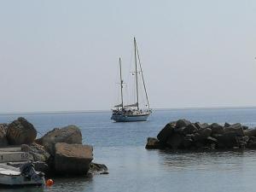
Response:
[{"label": "pale hazy blue-grey sky above the horizon", "polygon": [[253,0],[0,0],[0,113],[110,110],[133,37],[152,108],[256,106],[255,18]]}]

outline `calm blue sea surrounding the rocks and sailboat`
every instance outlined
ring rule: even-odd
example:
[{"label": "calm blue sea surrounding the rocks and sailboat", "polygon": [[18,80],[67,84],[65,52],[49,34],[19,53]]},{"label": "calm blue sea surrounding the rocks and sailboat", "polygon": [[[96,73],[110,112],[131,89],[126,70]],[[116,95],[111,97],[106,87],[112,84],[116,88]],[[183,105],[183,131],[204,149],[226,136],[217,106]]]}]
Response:
[{"label": "calm blue sea surrounding the rocks and sailboat", "polygon": [[147,150],[148,137],[156,137],[170,121],[256,126],[256,108],[155,109],[148,121],[114,123],[110,112],[0,114],[0,122],[25,117],[38,137],[55,127],[78,125],[83,143],[94,148],[94,162],[108,166],[108,175],[53,177],[45,188],[0,191],[54,192],[252,192],[256,189],[256,151],[170,153]]}]

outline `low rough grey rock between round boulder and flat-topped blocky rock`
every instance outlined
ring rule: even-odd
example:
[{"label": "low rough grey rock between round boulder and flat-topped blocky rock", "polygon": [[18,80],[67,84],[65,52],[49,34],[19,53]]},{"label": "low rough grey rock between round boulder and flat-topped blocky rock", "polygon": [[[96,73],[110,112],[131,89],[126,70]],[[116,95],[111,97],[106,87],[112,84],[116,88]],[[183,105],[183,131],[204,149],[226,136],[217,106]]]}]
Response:
[{"label": "low rough grey rock between round boulder and flat-topped blocky rock", "polygon": [[31,145],[22,144],[21,151],[32,154],[34,161],[48,162],[49,153],[44,149],[44,146],[32,143]]}]

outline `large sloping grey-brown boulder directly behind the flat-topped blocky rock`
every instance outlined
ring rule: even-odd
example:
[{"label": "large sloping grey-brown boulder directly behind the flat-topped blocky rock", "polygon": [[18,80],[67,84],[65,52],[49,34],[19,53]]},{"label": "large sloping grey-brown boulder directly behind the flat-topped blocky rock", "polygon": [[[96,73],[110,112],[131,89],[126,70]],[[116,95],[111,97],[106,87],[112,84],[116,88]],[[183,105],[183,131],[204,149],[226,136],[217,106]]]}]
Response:
[{"label": "large sloping grey-brown boulder directly behind the flat-topped blocky rock", "polygon": [[76,125],[55,128],[40,139],[49,154],[55,154],[55,143],[82,144],[82,133]]}]

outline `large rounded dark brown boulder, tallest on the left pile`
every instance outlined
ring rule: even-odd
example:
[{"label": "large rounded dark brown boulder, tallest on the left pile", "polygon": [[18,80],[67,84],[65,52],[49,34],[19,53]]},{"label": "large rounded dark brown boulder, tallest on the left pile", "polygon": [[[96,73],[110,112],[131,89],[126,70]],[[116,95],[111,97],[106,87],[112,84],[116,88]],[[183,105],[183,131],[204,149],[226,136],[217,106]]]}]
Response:
[{"label": "large rounded dark brown boulder, tallest on the left pile", "polygon": [[7,139],[11,145],[31,144],[36,137],[36,129],[24,118],[20,117],[8,125]]}]

